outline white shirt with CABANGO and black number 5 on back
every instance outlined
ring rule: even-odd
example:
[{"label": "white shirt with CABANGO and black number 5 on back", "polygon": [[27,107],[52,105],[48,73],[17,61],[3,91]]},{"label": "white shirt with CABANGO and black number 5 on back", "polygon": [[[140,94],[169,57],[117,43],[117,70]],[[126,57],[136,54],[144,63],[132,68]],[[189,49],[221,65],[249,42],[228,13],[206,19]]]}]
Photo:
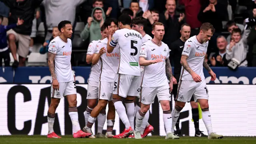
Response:
[{"label": "white shirt with CABANGO and black number 5 on back", "polygon": [[123,28],[116,30],[112,36],[110,46],[120,48],[120,61],[118,74],[140,76],[139,55],[142,46],[142,35],[132,29]]}]

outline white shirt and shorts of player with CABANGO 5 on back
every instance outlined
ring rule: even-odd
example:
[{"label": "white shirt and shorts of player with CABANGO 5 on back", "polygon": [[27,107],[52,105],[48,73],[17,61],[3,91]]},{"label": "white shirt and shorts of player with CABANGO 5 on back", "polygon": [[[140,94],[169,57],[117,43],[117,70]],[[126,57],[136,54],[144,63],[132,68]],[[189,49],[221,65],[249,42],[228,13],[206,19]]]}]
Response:
[{"label": "white shirt and shorts of player with CABANGO 5 on back", "polygon": [[117,43],[120,48],[120,59],[113,94],[118,94],[124,98],[139,96],[139,54],[142,46],[142,35],[127,28],[116,30],[112,36],[110,46],[116,47]]}]

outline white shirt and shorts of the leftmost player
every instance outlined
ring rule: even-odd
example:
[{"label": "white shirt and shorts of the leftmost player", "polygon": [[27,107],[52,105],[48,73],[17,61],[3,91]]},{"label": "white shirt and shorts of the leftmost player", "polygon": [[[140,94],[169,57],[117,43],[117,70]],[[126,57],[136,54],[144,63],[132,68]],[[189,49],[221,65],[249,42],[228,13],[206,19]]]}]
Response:
[{"label": "white shirt and shorts of the leftmost player", "polygon": [[68,38],[68,41],[65,42],[60,36],[57,36],[50,42],[48,52],[56,55],[54,58],[54,70],[60,86],[59,90],[53,90],[51,84],[51,97],[62,98],[63,96],[76,94],[76,83],[70,62],[72,53],[71,40]]}]

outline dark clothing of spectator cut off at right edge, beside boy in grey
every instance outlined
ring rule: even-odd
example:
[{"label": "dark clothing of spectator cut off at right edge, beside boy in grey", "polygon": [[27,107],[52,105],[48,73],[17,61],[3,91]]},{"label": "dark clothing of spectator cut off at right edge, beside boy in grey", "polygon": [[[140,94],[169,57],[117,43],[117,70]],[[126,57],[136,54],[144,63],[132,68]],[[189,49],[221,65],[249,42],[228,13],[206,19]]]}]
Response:
[{"label": "dark clothing of spectator cut off at right edge, beside boy in grey", "polygon": [[[247,38],[249,47],[252,47],[252,66],[256,66],[256,26],[253,26]],[[248,62],[249,63],[249,62]]]}]

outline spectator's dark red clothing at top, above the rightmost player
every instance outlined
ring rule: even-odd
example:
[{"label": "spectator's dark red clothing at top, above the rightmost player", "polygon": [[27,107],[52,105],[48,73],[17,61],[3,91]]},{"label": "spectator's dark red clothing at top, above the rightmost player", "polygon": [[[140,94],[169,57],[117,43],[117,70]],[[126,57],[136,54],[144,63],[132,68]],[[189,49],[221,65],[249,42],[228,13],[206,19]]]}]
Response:
[{"label": "spectator's dark red clothing at top, above the rightmost player", "polygon": [[197,18],[201,8],[200,0],[179,0],[179,3],[185,6],[186,23],[191,27],[190,36],[197,35],[202,25]]}]

